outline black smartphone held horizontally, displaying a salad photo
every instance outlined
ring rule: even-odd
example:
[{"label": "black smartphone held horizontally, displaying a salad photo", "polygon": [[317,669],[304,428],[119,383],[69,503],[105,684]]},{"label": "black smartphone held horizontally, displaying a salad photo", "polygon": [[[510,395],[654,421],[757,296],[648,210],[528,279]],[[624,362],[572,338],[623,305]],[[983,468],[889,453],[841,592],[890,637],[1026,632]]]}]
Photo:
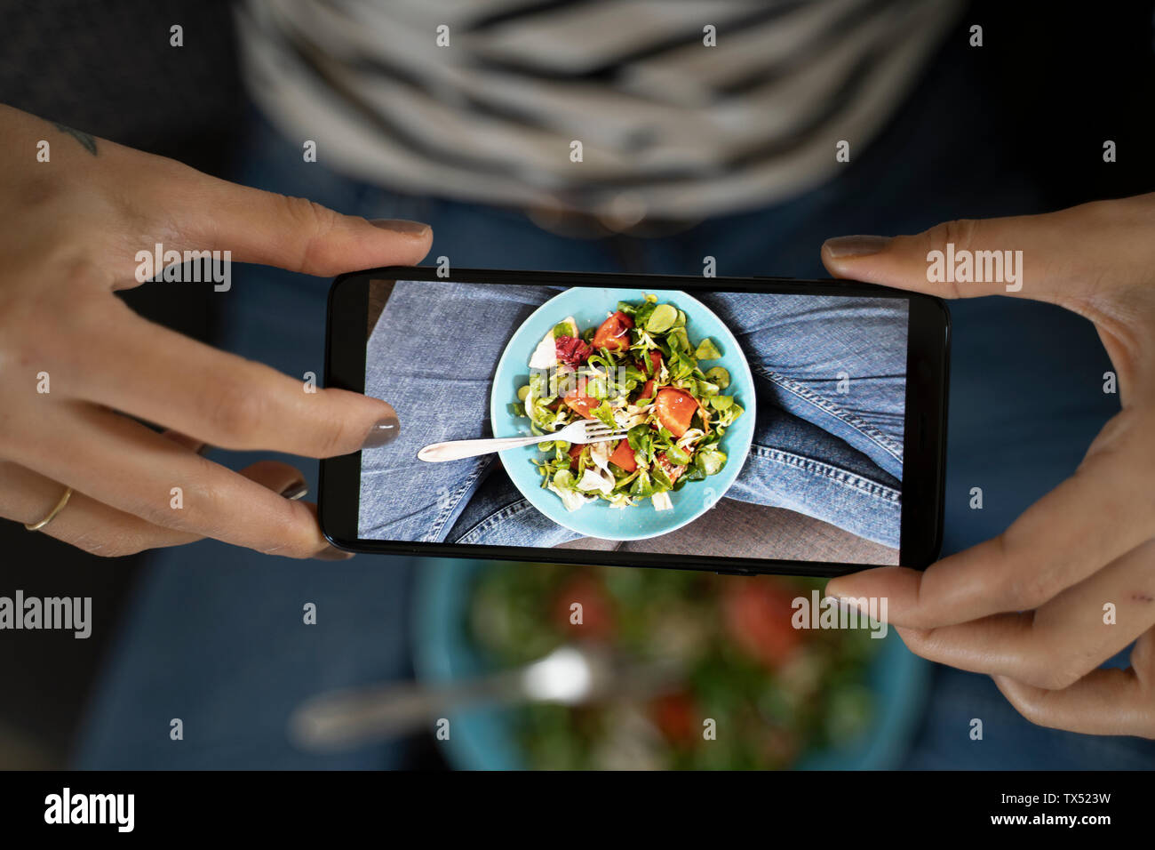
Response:
[{"label": "black smartphone held horizontally, displaying a salad photo", "polygon": [[[321,463],[343,549],[833,576],[940,547],[939,298],[389,267],[333,282],[326,348],[327,386],[401,422]],[[490,438],[530,444],[461,445]]]}]

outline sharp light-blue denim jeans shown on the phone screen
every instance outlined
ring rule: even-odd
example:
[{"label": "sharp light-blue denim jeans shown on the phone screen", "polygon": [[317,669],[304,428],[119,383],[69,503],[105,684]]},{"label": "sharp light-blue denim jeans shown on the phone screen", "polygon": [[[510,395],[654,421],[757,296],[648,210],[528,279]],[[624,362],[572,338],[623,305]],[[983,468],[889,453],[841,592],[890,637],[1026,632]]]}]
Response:
[{"label": "sharp light-blue denim jeans shown on the phone screen", "polygon": [[[417,459],[427,443],[485,436],[493,365],[553,295],[541,286],[396,283],[368,339],[365,392],[390,401],[402,428],[395,442],[362,452],[363,537],[543,547],[580,537],[534,509],[495,456]],[[726,497],[789,508],[897,548],[906,302],[698,297],[738,337],[760,402],[750,457]],[[851,392],[836,391],[840,371],[854,376]]]}]

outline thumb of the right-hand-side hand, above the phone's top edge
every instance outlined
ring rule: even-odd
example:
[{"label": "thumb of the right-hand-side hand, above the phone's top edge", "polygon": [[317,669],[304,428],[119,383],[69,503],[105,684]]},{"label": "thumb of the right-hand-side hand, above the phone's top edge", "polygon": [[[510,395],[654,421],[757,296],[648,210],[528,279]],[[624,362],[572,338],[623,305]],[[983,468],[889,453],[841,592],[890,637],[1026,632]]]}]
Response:
[{"label": "thumb of the right-hand-side hand, above the phone's top edge", "polygon": [[[915,236],[840,236],[822,244],[835,278],[946,298],[1013,295],[1059,302],[1102,278],[1104,219],[1088,204],[1046,215],[960,219]],[[1098,271],[1094,269],[1098,266]]]}]

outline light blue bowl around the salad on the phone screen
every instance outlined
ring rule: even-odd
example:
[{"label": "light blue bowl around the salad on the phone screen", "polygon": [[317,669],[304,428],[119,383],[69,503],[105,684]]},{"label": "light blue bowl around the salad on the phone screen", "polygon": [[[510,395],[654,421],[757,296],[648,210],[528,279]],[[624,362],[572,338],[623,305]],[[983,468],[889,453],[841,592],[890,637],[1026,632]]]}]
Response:
[{"label": "light blue bowl around the salad on the phone screen", "polygon": [[[658,289],[649,291],[660,302],[672,304],[686,313],[686,332],[692,345],[698,345],[709,337],[722,356],[710,360],[706,368],[721,365],[730,372],[730,385],[726,394],[744,408],[738,420],[726,428],[721,448],[726,454],[726,464],[716,475],[703,481],[690,481],[677,493],[671,493],[672,510],[655,510],[649,500],[633,508],[611,508],[604,500],[586,504],[575,511],[569,511],[561,500],[542,487],[542,476],[532,460],[545,458],[536,446],[507,449],[500,453],[514,485],[537,510],[558,525],[575,531],[584,537],[603,540],[642,540],[644,538],[666,534],[692,523],[713,508],[730,489],[746,463],[750,444],[754,435],[754,379],[750,374],[746,357],[722,320],[705,304],[686,293]],[[558,323],[572,316],[578,320],[578,327],[584,331],[597,327],[611,313],[619,301],[640,303],[647,290],[642,289],[604,289],[599,287],[581,287],[566,289],[542,304],[517,328],[501,359],[498,361],[493,378],[493,391],[490,397],[490,421],[493,424],[494,437],[529,436],[529,420],[509,413],[509,404],[517,400],[517,389],[529,383],[529,359],[537,343],[542,341]]]}]

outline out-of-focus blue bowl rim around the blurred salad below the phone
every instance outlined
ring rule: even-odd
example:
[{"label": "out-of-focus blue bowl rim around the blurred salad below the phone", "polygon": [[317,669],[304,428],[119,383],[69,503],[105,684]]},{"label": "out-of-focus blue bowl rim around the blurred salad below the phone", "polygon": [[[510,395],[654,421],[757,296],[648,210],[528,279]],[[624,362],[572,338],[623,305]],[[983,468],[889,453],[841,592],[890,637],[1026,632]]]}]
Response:
[{"label": "out-of-focus blue bowl rim around the blurred salad below the phone", "polygon": [[[413,620],[413,666],[417,678],[448,682],[492,670],[469,635],[474,582],[483,561],[424,560],[417,569]],[[531,570],[534,564],[522,564]],[[628,568],[619,568],[628,569]],[[803,770],[889,770],[897,768],[910,745],[925,704],[931,665],[912,655],[889,630],[867,672],[874,695],[873,719],[844,746],[815,751],[798,764]],[[478,708],[452,715],[449,739],[440,741],[459,770],[519,770],[521,747],[508,709]]]}]

